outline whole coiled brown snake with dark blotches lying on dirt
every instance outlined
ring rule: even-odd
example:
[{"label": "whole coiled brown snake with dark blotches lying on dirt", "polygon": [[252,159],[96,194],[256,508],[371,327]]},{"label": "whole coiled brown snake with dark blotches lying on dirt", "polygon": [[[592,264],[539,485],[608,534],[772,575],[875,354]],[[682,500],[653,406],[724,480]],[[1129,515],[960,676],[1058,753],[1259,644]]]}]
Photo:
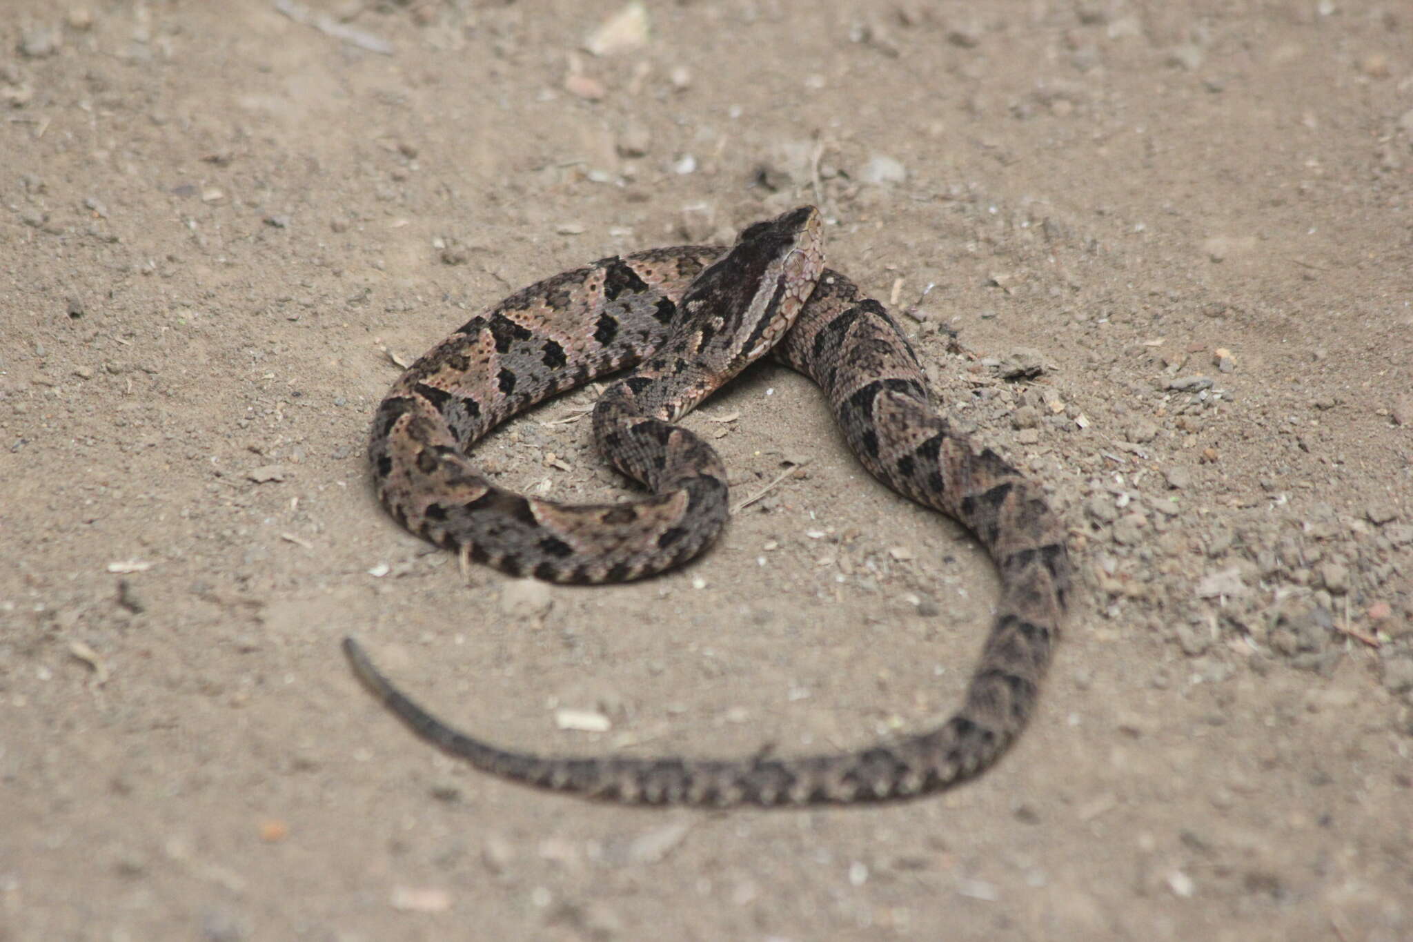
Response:
[{"label": "whole coiled brown snake with dark blotches lying on dirt", "polygon": [[[541,756],[442,722],[343,652],[363,686],[418,737],[503,780],[633,805],[804,806],[907,799],[975,778],[1034,712],[1071,590],[1061,517],[1043,487],[934,401],[897,322],[824,267],[822,217],[801,206],[735,244],[602,258],[530,285],[468,321],[394,383],[369,445],[373,489],[407,530],[512,576],[612,583],[681,566],[731,515],[716,452],[677,425],[771,354],[828,397],[876,479],[961,523],[1000,575],[991,630],[961,706],[920,733],[825,754]],[[592,412],[602,456],[647,494],[564,504],[504,490],[469,452],[536,403],[629,367]]]}]

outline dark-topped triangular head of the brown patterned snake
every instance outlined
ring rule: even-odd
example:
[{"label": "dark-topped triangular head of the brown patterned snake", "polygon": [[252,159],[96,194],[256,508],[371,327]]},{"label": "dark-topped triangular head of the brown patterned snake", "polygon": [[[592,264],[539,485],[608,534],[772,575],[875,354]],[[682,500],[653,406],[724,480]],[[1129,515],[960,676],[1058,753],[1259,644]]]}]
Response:
[{"label": "dark-topped triangular head of the brown patterned snake", "polygon": [[677,339],[725,383],[794,325],[824,271],[824,223],[800,206],[742,230],[682,295]]}]

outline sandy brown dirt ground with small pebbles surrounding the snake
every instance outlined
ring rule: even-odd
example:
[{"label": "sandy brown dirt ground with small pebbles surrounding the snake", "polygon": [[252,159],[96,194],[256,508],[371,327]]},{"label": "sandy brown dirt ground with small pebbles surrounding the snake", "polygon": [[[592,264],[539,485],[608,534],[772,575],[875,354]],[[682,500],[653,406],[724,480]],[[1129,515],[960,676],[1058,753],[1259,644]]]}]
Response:
[{"label": "sandy brown dirt ground with small pebbles surrounding the snake", "polygon": [[[0,16],[0,939],[1413,938],[1407,7],[308,1]],[[370,494],[394,357],[804,202],[1071,525],[1031,729],[940,797],[726,813],[411,737],[345,633],[543,751],[955,706],[989,562],[780,367],[688,424],[738,496],[808,465],[666,578],[462,573]],[[479,459],[620,493],[591,401]]]}]

